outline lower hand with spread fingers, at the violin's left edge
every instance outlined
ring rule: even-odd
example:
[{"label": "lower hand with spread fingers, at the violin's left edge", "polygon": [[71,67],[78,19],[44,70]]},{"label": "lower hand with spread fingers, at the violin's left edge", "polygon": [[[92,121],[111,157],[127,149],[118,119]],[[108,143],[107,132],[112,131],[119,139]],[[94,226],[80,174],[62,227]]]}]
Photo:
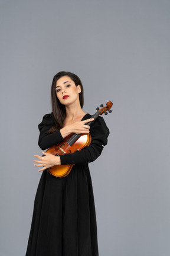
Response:
[{"label": "lower hand with spread fingers, at the violin's left edge", "polygon": [[34,155],[36,158],[40,159],[34,160],[34,162],[37,163],[34,164],[34,166],[43,167],[42,169],[38,170],[39,172],[44,171],[44,169],[53,167],[54,165],[61,165],[60,156],[54,156],[51,153],[45,152],[42,152],[42,155],[44,156]]}]

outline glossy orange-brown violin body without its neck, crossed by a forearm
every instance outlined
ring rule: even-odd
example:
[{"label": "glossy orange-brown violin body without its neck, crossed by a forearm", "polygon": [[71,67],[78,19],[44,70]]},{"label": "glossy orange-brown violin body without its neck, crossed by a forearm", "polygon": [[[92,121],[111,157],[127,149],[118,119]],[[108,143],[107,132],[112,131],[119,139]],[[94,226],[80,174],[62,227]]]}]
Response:
[{"label": "glossy orange-brown violin body without its neck, crossed by a forearm", "polygon": [[[65,155],[68,153],[74,153],[76,151],[81,151],[81,149],[86,148],[87,146],[90,145],[91,143],[91,135],[90,133],[88,134],[83,134],[80,135],[80,137],[76,140],[76,142],[73,143],[73,145],[69,145],[68,139],[73,136],[73,134],[68,135],[63,142],[61,142],[59,145],[54,145],[50,149],[47,149],[47,153],[52,153],[55,156],[60,156],[60,155]],[[67,164],[67,165],[54,165],[53,167],[49,168],[48,171],[50,174],[63,178],[66,177],[74,164]]]}]

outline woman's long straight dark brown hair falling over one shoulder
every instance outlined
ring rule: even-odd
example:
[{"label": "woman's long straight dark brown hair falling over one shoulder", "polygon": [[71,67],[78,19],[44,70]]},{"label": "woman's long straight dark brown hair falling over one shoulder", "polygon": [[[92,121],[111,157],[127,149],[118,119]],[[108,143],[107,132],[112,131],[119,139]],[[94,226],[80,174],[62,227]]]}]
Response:
[{"label": "woman's long straight dark brown hair falling over one shoulder", "polygon": [[56,130],[63,128],[63,123],[66,118],[66,107],[65,105],[60,103],[55,92],[56,82],[62,76],[69,76],[71,80],[73,80],[76,86],[80,85],[81,92],[79,93],[79,100],[80,100],[81,108],[83,108],[83,105],[84,105],[83,85],[81,83],[80,78],[71,72],[66,72],[66,71],[58,72],[54,76],[53,82],[51,85],[51,104],[52,104],[53,119],[54,119],[55,126],[51,127],[48,133],[53,133]]}]

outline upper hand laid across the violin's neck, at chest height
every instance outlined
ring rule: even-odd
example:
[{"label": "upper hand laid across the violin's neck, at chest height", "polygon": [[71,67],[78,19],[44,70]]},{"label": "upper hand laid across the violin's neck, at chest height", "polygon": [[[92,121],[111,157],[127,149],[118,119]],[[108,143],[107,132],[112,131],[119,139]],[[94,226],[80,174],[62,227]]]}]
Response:
[{"label": "upper hand laid across the violin's neck, at chest height", "polygon": [[90,126],[86,125],[86,123],[89,123],[89,121],[93,121],[93,120],[94,119],[86,119],[83,121],[75,121],[72,124],[68,124],[67,126],[60,129],[61,136],[64,138],[70,135],[70,133],[77,133],[77,134],[89,133]]}]

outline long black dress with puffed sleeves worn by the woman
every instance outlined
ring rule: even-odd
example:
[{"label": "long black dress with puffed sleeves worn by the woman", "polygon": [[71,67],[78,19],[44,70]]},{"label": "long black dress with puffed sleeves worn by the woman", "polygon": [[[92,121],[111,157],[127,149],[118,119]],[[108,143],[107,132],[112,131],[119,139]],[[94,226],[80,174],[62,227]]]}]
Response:
[{"label": "long black dress with puffed sleeves worn by the woman", "polygon": [[[89,119],[86,114],[82,120]],[[38,125],[38,145],[42,150],[62,142],[60,130],[46,114]],[[98,256],[96,213],[88,163],[107,144],[109,129],[102,117],[91,124],[91,144],[80,152],[62,155],[61,164],[75,164],[64,178],[42,172],[34,202],[34,212],[26,256]]]}]

